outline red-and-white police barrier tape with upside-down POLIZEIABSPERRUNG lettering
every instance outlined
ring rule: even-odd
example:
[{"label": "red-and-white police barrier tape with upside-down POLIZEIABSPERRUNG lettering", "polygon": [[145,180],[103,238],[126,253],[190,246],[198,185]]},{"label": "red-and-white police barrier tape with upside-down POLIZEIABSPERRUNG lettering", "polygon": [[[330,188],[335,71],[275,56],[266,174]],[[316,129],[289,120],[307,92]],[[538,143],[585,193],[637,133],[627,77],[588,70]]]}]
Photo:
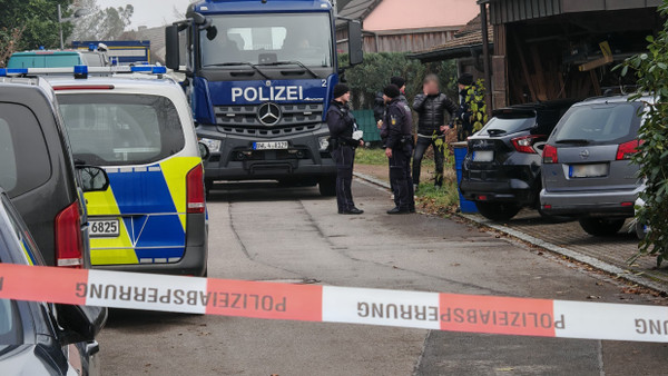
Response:
[{"label": "red-and-white police barrier tape with upside-down POLIZEIABSPERRUNG lettering", "polygon": [[487,333],[668,343],[668,307],[0,264],[0,298]]}]

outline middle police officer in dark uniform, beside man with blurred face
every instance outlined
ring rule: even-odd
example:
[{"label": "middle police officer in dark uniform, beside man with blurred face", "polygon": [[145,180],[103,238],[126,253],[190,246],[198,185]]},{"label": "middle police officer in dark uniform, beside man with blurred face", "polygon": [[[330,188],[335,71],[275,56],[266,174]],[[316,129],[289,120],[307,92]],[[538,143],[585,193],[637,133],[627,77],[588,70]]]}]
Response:
[{"label": "middle police officer in dark uniform, beside man with blurred face", "polygon": [[413,154],[413,116],[411,108],[401,100],[396,85],[383,90],[386,103],[384,129],[385,156],[390,164],[390,184],[394,192],[394,209],[387,214],[415,212],[415,191],[411,181],[411,155]]}]

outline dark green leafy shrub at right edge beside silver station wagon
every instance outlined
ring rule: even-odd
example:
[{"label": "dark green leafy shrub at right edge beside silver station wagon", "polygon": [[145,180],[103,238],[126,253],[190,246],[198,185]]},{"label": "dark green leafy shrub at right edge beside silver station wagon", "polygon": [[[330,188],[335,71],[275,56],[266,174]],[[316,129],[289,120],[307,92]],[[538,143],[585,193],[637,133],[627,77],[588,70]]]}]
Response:
[{"label": "dark green leafy shrub at right edge beside silver station wagon", "polygon": [[[668,0],[659,7],[661,16],[668,16]],[[622,65],[621,75],[631,72],[637,79],[638,89],[630,100],[645,101],[645,121],[639,131],[638,152],[633,162],[640,166],[640,177],[645,177],[647,189],[640,194],[645,206],[638,208],[637,220],[648,224],[649,232],[641,240],[641,255],[656,255],[657,266],[668,258],[668,21],[657,37],[647,37],[648,51],[628,58]]]}]

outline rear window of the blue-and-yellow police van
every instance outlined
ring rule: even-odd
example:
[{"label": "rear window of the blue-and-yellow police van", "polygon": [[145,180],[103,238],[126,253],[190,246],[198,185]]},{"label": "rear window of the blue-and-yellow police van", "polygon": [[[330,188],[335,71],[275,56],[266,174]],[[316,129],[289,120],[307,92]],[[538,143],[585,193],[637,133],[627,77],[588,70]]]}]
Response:
[{"label": "rear window of the blue-and-yellow police van", "polygon": [[95,166],[146,165],[185,147],[174,103],[161,96],[61,95],[75,159]]}]

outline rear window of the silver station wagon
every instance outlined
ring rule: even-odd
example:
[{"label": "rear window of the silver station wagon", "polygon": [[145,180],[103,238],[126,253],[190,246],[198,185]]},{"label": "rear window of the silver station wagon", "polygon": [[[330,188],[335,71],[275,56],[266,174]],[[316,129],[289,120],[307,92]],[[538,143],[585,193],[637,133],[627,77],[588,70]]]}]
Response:
[{"label": "rear window of the silver station wagon", "polygon": [[640,125],[639,103],[572,107],[554,130],[552,142],[618,144],[633,139]]}]

